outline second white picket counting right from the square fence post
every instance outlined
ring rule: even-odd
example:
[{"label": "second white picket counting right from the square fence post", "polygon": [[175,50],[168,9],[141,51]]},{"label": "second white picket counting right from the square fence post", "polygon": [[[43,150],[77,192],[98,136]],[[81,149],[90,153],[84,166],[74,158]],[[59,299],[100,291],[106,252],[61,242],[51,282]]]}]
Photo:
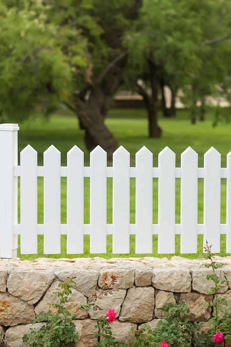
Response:
[{"label": "second white picket counting right from the square fence post", "polygon": [[52,145],[44,152],[44,253],[59,254],[60,152]]}]

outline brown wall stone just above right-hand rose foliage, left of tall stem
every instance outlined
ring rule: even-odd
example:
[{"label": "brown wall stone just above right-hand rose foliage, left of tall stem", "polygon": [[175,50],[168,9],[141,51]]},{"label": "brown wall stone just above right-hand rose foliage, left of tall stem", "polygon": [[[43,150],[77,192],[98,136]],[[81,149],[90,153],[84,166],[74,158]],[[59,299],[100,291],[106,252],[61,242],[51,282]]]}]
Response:
[{"label": "brown wall stone just above right-hand rose foliage, left of tall stem", "polygon": [[212,301],[212,295],[202,295],[199,293],[182,293],[179,304],[187,304],[190,310],[185,314],[186,318],[194,322],[204,322],[211,316],[211,307],[205,306],[206,302]]}]

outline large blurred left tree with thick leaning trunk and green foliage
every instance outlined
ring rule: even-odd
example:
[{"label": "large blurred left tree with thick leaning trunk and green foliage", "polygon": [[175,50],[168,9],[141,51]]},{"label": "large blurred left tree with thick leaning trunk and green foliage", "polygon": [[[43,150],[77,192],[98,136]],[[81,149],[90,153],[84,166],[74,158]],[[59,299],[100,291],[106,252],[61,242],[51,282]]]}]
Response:
[{"label": "large blurred left tree with thick leaning trunk and green foliage", "polygon": [[112,153],[104,120],[123,82],[125,31],[135,0],[0,0],[0,114],[23,119],[37,104],[64,103],[85,129],[87,148]]}]

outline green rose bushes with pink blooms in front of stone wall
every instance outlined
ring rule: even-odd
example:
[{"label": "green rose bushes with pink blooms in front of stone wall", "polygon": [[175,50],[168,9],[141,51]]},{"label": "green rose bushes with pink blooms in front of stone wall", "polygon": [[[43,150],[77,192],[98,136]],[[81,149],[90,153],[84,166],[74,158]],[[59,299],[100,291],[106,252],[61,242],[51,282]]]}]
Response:
[{"label": "green rose bushes with pink blooms in front of stone wall", "polygon": [[[118,343],[112,335],[111,323],[116,320],[116,312],[113,308],[106,310],[106,315],[97,320],[97,333],[92,335],[98,341],[95,347],[212,347],[225,344],[225,341],[231,342],[231,309],[226,300],[219,296],[219,289],[226,280],[220,280],[217,277],[216,269],[221,268],[222,264],[214,261],[214,254],[211,252],[211,246],[206,243],[204,266],[211,268],[212,273],[207,274],[207,280],[214,282],[214,287],[210,288],[207,294],[213,295],[213,300],[206,303],[212,307],[212,318],[208,321],[210,328],[205,333],[201,329],[201,324],[190,322],[186,315],[189,308],[182,304],[168,304],[163,306],[165,310],[164,319],[159,321],[155,329],[151,329],[148,324],[142,325],[142,329],[134,332],[133,339],[127,343]],[[51,311],[41,313],[36,316],[35,322],[44,322],[39,329],[31,329],[30,333],[23,337],[21,347],[75,347],[78,346],[78,333],[75,331],[73,320],[76,319],[76,313],[79,310],[89,311],[90,309],[101,310],[97,299],[103,296],[112,295],[110,288],[117,282],[116,276],[110,276],[110,283],[103,283],[101,291],[91,295],[85,305],[78,305],[77,310],[70,314],[65,308],[68,296],[73,289],[77,289],[73,278],[67,278],[65,282],[59,284],[61,291],[53,294],[60,298],[58,304],[50,304],[55,307],[56,313]],[[1,346],[1,345],[0,345]],[[6,347],[6,345],[2,345]]]}]

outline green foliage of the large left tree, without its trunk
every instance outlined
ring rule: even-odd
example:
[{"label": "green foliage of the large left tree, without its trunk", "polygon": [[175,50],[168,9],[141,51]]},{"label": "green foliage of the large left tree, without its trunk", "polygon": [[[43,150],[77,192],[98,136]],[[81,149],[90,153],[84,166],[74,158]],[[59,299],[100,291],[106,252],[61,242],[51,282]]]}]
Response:
[{"label": "green foliage of the large left tree, without its trunk", "polygon": [[0,0],[0,120],[71,104],[123,49],[134,4]]}]

